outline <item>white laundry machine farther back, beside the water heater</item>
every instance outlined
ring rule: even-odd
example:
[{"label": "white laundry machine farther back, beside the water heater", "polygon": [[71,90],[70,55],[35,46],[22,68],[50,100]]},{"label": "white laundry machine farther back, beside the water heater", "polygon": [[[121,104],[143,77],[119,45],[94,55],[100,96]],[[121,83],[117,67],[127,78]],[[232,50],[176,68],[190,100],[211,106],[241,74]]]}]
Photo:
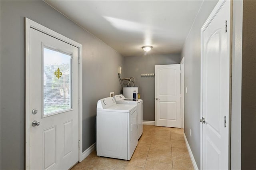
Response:
[{"label": "white laundry machine farther back, beside the water heater", "polygon": [[142,135],[143,132],[143,101],[142,99],[127,99],[124,95],[115,95],[114,99],[117,104],[125,104],[125,105],[137,105],[137,124],[138,124],[138,139]]}]

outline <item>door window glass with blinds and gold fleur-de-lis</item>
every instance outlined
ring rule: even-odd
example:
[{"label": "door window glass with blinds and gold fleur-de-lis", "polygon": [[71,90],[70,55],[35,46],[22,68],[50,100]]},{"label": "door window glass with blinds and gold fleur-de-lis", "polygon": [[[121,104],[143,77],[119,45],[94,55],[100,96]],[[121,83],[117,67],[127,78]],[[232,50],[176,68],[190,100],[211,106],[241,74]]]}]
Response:
[{"label": "door window glass with blinds and gold fleur-de-lis", "polygon": [[72,54],[44,47],[43,116],[72,109]]}]

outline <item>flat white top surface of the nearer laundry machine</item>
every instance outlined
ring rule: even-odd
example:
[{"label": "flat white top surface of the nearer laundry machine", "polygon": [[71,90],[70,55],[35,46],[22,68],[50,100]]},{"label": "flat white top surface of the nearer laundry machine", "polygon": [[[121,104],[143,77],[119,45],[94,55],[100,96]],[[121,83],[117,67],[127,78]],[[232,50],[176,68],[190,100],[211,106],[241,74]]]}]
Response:
[{"label": "flat white top surface of the nearer laundry machine", "polygon": [[133,109],[136,109],[137,105],[112,105],[108,108],[101,109],[97,108],[97,111],[105,111],[105,112],[130,112]]}]

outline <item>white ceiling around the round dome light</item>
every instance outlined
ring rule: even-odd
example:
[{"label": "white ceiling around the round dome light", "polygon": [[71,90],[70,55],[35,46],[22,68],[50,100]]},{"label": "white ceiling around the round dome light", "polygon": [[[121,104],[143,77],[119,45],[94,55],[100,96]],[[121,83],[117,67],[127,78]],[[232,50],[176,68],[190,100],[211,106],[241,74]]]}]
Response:
[{"label": "white ceiling around the round dome light", "polygon": [[180,53],[202,0],[45,0],[123,56]]}]

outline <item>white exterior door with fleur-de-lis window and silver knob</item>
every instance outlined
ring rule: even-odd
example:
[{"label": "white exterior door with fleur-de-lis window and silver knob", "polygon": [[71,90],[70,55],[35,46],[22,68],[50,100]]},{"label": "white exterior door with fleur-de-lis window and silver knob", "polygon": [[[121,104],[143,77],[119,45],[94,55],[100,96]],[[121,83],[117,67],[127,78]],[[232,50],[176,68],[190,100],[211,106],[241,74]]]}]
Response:
[{"label": "white exterior door with fleur-de-lis window and silver knob", "polygon": [[29,29],[26,168],[68,169],[79,156],[78,47]]}]

